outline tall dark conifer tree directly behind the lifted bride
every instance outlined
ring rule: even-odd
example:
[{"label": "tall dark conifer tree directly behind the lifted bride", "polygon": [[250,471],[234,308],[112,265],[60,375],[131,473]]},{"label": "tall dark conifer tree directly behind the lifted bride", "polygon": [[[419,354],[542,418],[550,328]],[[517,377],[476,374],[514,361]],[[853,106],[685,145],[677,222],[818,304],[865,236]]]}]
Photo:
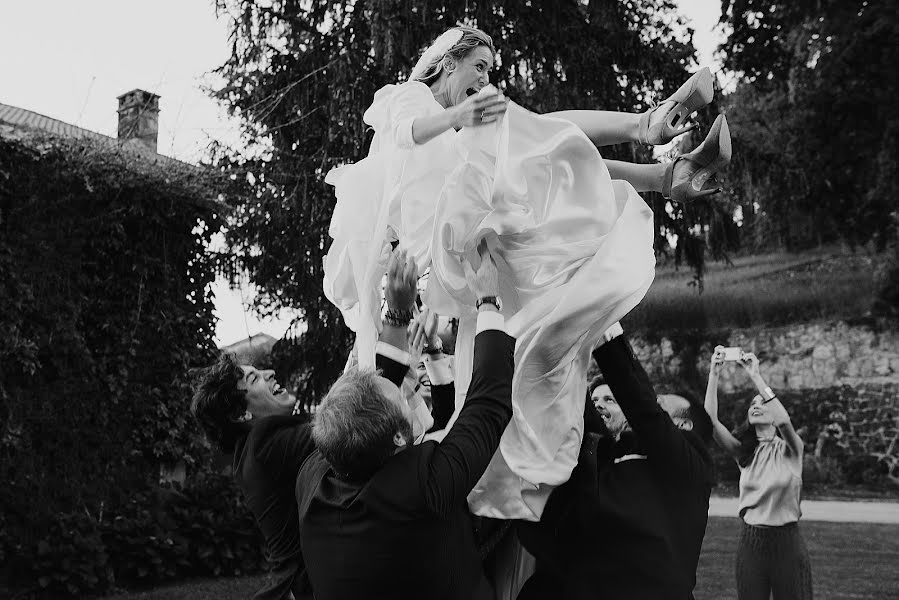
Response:
[{"label": "tall dark conifer tree directly behind the lifted bride", "polygon": [[[219,149],[221,164],[251,190],[229,229],[229,256],[260,286],[263,310],[302,311],[298,343],[276,346],[275,356],[281,368],[303,374],[300,391],[312,397],[333,381],[350,343],[322,292],[334,207],[324,175],[365,156],[371,131],[362,114],[378,88],[404,80],[421,51],[460,23],[493,36],[493,82],[538,112],[645,109],[685,79],[694,52],[688,34],[678,34],[671,0],[219,0],[218,7],[232,19],[233,51],[214,95],[241,118],[251,146]],[[603,149],[628,160],[647,160],[647,152]],[[659,248],[679,233],[679,256],[700,264],[695,241],[715,211],[700,205],[669,214],[661,198],[651,201]]]}]

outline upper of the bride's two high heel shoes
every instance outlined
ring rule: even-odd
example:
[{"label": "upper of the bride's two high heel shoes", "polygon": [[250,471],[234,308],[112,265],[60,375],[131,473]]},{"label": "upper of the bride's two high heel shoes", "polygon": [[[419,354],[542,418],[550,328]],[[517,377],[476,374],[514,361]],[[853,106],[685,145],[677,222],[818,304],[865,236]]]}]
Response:
[{"label": "upper of the bride's two high heel shoes", "polygon": [[[670,98],[640,115],[637,138],[643,144],[658,146],[687,133],[695,128],[693,125],[686,125],[687,118],[711,102],[714,95],[712,72],[708,67],[703,67],[685,81]],[[656,111],[666,109],[668,112],[661,121],[650,124]]]}]

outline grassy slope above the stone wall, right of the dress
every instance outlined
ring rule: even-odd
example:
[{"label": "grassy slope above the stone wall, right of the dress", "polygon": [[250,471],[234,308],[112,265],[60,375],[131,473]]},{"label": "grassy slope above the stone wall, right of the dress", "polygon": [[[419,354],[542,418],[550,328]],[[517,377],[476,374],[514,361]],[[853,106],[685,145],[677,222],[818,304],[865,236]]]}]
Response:
[{"label": "grassy slope above the stone wall, right of the dress", "polygon": [[839,248],[740,257],[709,263],[702,294],[690,285],[690,269],[660,266],[624,325],[665,332],[858,318],[871,308],[880,260]]}]

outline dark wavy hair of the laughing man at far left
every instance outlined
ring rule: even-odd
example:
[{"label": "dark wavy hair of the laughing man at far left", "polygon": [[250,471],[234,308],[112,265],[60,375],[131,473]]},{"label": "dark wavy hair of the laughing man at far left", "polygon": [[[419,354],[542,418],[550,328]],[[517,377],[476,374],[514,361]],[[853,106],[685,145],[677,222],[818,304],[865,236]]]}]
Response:
[{"label": "dark wavy hair of the laughing man at far left", "polygon": [[237,388],[243,369],[234,354],[223,353],[215,364],[193,372],[190,412],[206,437],[222,452],[232,452],[237,438],[246,431],[238,419],[247,411],[247,391]]}]

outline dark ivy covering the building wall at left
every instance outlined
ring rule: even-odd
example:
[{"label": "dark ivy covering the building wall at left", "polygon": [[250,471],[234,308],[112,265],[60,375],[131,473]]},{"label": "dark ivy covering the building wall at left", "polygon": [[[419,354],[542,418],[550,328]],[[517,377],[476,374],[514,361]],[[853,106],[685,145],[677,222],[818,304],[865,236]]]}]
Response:
[{"label": "dark ivy covering the building wall at left", "polygon": [[214,351],[220,188],[175,161],[4,133],[0,512],[39,534],[203,456],[187,374]]}]

